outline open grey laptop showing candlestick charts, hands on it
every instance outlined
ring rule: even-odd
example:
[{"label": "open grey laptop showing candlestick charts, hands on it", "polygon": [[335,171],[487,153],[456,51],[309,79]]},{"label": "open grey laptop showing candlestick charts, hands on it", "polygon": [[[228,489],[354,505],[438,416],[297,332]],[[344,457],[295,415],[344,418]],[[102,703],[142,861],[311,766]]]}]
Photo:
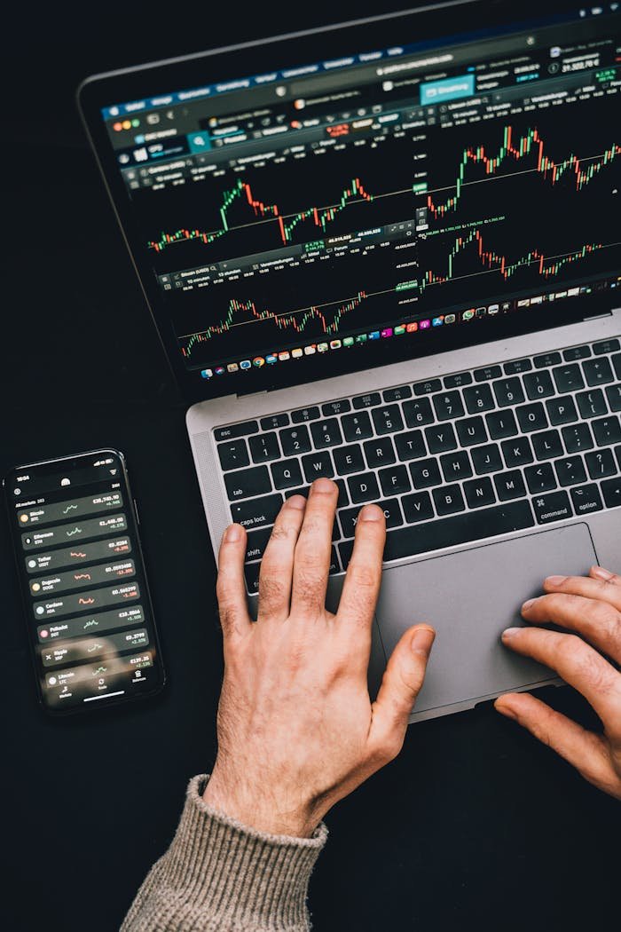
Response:
[{"label": "open grey laptop showing candlestick charts, hands on it", "polygon": [[214,552],[247,528],[256,610],[282,502],[330,476],[335,606],[379,502],[371,691],[438,630],[412,721],[558,682],[501,631],[547,574],[621,572],[618,7],[437,4],[78,91]]}]

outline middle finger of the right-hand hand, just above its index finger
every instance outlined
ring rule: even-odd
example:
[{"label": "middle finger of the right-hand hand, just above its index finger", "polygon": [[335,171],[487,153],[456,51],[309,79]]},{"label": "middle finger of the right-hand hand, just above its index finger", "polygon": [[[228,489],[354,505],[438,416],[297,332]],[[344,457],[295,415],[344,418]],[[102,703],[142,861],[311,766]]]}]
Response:
[{"label": "middle finger of the right-hand hand, just above its index finger", "polygon": [[[578,577],[568,579],[575,580],[575,583],[570,583],[569,588],[580,588]],[[583,582],[592,586],[606,585],[595,580],[584,579]],[[546,588],[548,584],[549,580],[546,580]],[[595,597],[555,592],[524,602],[521,613],[527,622],[553,622],[563,628],[569,628],[570,631],[577,631],[578,634],[587,637],[599,651],[616,661],[621,660],[621,615],[608,602],[602,602]]]}]

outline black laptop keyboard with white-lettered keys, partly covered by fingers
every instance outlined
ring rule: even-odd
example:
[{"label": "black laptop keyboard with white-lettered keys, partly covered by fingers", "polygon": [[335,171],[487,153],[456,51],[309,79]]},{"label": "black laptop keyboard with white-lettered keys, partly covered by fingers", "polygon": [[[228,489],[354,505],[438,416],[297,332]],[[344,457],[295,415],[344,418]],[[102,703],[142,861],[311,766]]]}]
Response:
[{"label": "black laptop keyboard with white-lettered keys, partly covered by fingers", "polygon": [[331,573],[369,501],[387,562],[620,506],[619,412],[608,339],[217,428],[249,592],[283,500],[320,476],[339,487]]}]

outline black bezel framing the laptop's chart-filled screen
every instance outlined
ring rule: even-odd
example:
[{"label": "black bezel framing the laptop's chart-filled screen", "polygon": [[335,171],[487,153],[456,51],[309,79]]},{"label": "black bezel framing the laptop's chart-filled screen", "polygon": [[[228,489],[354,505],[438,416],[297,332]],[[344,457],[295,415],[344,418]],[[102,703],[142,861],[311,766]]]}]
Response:
[{"label": "black bezel framing the laptop's chart-filled screen", "polygon": [[[355,54],[373,48],[390,48],[401,43],[404,34],[421,42],[437,40],[441,46],[459,36],[459,41],[484,37],[503,27],[535,28],[537,22],[563,21],[578,11],[562,2],[534,2],[520,4],[520,16],[510,12],[511,5],[503,0],[455,0],[398,13],[389,13],[362,21],[326,26],[322,29],[260,39],[226,48],[213,49],[181,59],[149,62],[134,68],[105,75],[88,77],[77,90],[78,108],[84,120],[90,143],[99,163],[104,183],[116,213],[119,226],[128,246],[133,265],[142,285],[147,306],[166,353],[169,366],[188,403],[206,401],[228,394],[250,394],[257,391],[275,391],[291,385],[304,384],[388,363],[415,360],[430,354],[473,346],[508,336],[520,336],[537,330],[549,329],[568,323],[581,322],[587,317],[610,312],[614,297],[609,291],[580,295],[554,308],[516,310],[505,317],[487,318],[462,323],[450,330],[429,329],[415,339],[380,340],[363,344],[348,351],[323,354],[320,365],[317,356],[303,357],[288,364],[250,369],[235,378],[215,377],[201,380],[192,375],[182,363],[177,342],[169,323],[169,310],[155,282],[155,275],[142,255],[142,238],[131,208],[125,185],[116,165],[113,148],[108,138],[101,108],[140,99],[144,96],[165,94],[171,89],[184,89],[205,83],[232,80],[245,75],[260,74],[265,70],[298,66],[315,62],[319,57]],[[543,18],[543,20],[542,20]],[[450,25],[447,27],[447,21]],[[317,50],[320,39],[321,48]]]}]

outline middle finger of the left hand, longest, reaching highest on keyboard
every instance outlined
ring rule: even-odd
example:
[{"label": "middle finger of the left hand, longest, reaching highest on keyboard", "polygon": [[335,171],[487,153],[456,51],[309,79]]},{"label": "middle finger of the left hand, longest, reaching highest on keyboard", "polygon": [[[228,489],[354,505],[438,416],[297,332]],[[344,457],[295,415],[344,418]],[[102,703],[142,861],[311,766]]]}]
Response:
[{"label": "middle finger of the left hand, longest, reaching highest on keyboard", "polygon": [[310,487],[293,557],[291,613],[317,615],[325,609],[338,497],[339,489],[330,479],[316,479]]}]

